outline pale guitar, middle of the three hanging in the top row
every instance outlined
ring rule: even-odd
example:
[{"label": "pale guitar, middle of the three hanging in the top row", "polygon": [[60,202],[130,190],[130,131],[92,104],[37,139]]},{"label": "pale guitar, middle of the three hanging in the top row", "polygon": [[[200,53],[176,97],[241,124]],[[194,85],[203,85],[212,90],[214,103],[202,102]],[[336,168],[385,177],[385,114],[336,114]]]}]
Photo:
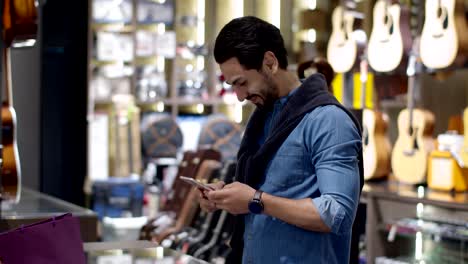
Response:
[{"label": "pale guitar, middle of the three hanging in the top row", "polygon": [[377,72],[392,72],[404,67],[404,55],[411,49],[408,8],[378,0],[373,10],[369,38],[369,65]]}]

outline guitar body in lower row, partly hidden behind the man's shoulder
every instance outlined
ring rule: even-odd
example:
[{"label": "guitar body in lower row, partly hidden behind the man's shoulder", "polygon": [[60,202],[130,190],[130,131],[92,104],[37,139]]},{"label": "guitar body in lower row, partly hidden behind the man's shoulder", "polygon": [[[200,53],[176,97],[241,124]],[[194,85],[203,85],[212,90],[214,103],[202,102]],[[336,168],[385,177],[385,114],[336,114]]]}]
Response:
[{"label": "guitar body in lower row, partly hidden behind the man's shoulder", "polygon": [[364,109],[363,158],[364,180],[378,179],[390,173],[391,145],[384,115],[375,110]]}]

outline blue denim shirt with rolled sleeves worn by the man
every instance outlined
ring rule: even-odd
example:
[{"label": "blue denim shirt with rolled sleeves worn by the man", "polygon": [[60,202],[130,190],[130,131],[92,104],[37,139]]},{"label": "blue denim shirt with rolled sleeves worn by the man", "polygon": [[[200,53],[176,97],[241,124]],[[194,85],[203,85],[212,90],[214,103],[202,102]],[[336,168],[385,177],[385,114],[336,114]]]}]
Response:
[{"label": "blue denim shirt with rolled sleeves worn by the man", "polygon": [[[267,119],[265,131],[274,118]],[[247,214],[243,263],[348,263],[361,146],[358,129],[339,107],[322,106],[306,114],[273,156],[259,189],[290,199],[311,198],[331,232]]]}]

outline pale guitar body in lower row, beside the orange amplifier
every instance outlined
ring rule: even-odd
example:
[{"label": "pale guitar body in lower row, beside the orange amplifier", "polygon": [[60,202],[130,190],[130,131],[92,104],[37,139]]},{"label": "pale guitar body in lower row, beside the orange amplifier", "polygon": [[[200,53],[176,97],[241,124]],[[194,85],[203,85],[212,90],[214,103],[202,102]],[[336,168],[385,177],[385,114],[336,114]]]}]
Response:
[{"label": "pale guitar body in lower row, beside the orange amplifier", "polygon": [[408,184],[426,182],[429,153],[434,149],[432,132],[435,117],[430,111],[413,110],[413,131],[409,127],[409,110],[398,115],[398,138],[392,152],[392,170],[396,179]]}]

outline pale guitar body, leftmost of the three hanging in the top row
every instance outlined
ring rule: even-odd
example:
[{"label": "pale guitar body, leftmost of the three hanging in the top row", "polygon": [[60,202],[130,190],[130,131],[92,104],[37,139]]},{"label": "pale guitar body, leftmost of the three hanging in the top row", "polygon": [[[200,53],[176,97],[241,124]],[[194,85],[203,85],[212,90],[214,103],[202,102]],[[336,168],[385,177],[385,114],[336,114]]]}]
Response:
[{"label": "pale guitar body, leftmost of the three hanging in the top row", "polygon": [[357,44],[352,37],[354,17],[342,6],[332,14],[332,33],[327,47],[327,60],[335,72],[350,71],[356,63]]}]

